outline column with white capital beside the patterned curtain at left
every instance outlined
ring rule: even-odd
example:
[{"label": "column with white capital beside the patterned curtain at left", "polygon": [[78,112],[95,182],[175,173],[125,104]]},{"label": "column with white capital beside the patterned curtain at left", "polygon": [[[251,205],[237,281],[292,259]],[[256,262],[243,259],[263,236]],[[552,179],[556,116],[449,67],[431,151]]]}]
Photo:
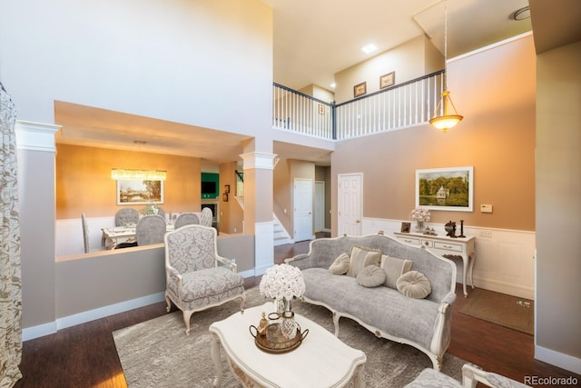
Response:
[{"label": "column with white capital beside the patterned curtain at left", "polygon": [[15,124],[24,341],[56,333],[54,134],[59,129],[22,120]]}]

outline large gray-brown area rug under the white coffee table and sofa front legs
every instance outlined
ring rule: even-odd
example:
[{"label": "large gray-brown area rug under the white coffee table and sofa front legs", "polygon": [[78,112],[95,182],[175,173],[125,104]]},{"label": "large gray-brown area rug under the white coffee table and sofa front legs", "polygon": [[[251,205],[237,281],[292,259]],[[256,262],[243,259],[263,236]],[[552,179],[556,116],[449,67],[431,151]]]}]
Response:
[{"label": "large gray-brown area rug under the white coffee table and sofa front legs", "polygon": [[[258,287],[247,290],[247,297],[247,307],[266,302]],[[227,318],[239,308],[240,303],[235,301],[194,313],[190,335],[185,334],[181,312],[168,313],[113,332],[127,386],[212,387],[215,369],[210,357],[212,338],[208,328],[212,322]],[[300,302],[293,303],[292,309],[334,333],[329,310]],[[364,379],[369,388],[402,387],[424,368],[432,366],[428,356],[414,347],[377,338],[347,318],[340,320],[340,340],[366,353]],[[222,387],[242,387],[230,368],[225,366],[223,351],[221,354],[224,365]],[[442,372],[460,381],[464,363],[447,353]]]}]

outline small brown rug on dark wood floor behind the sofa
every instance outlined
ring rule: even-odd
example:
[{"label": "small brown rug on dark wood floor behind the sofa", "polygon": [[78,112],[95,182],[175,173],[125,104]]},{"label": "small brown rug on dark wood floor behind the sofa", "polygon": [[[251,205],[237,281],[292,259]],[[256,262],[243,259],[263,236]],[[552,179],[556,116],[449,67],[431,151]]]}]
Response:
[{"label": "small brown rug on dark wood floor behind the sofa", "polygon": [[476,288],[470,291],[466,303],[458,312],[533,335],[534,304],[529,299]]}]

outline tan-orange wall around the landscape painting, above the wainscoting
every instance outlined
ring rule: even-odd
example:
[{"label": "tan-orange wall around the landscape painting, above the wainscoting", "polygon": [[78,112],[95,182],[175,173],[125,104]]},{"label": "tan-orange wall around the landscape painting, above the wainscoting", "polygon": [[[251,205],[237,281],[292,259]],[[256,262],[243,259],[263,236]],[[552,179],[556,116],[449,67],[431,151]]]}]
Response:
[{"label": "tan-orange wall around the landscape painting, above the wainscoting", "polygon": [[[432,222],[463,219],[472,226],[534,231],[532,36],[458,59],[448,73],[448,88],[464,121],[446,134],[426,124],[338,143],[331,164],[333,198],[337,174],[362,173],[363,216],[407,220],[415,206],[416,169],[471,165],[474,212],[434,211]],[[480,204],[492,204],[493,214],[480,213]],[[336,233],[337,220],[332,225]]]}]

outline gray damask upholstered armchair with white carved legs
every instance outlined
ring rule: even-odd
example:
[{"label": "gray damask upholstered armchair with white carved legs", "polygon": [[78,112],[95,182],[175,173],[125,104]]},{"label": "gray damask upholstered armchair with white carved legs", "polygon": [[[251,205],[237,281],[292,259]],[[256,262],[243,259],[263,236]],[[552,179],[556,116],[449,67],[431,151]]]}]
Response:
[{"label": "gray damask upholstered armchair with white carved legs", "polygon": [[165,302],[182,310],[185,333],[190,333],[192,313],[235,299],[244,309],[244,280],[236,264],[218,255],[216,229],[201,224],[184,225],[165,234]]}]

